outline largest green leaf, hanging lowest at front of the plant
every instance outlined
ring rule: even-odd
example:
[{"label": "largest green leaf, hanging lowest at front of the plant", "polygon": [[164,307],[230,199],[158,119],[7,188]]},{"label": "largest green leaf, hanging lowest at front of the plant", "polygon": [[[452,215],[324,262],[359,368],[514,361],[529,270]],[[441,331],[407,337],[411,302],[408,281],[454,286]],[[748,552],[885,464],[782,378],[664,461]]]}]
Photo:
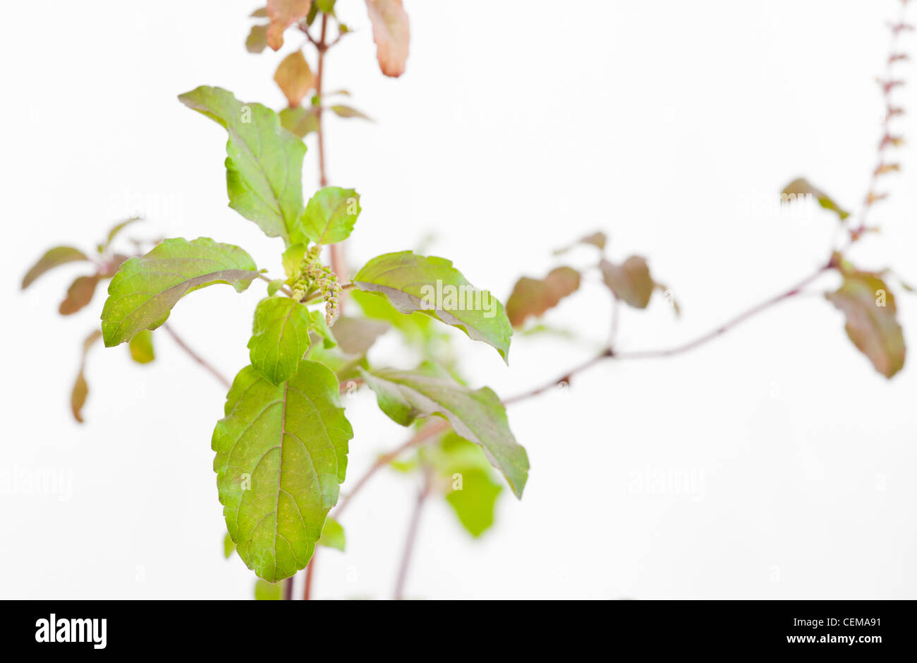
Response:
[{"label": "largest green leaf, hanging lowest at front of the plant", "polygon": [[326,366],[304,360],[282,385],[251,366],[226,396],[214,469],[226,529],[246,565],[276,582],[304,568],[337,503],[353,437]]}]

